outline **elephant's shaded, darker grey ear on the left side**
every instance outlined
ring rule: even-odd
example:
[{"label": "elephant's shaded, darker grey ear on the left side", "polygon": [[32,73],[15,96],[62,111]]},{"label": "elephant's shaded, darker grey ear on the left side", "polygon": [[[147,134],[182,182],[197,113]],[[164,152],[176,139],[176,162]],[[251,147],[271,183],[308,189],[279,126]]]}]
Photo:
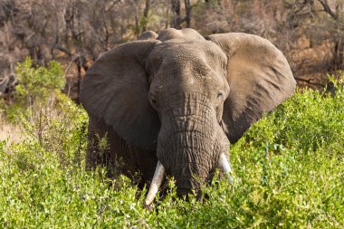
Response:
[{"label": "elephant's shaded, darker grey ear on the left side", "polygon": [[129,144],[156,150],[160,120],[148,102],[145,62],[157,41],[124,43],[105,52],[86,72],[81,104]]}]

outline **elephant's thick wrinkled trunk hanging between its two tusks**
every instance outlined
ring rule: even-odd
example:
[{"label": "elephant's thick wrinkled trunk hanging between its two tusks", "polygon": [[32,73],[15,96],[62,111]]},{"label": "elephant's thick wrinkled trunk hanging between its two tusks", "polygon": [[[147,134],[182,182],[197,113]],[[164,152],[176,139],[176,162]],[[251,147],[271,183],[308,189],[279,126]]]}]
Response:
[{"label": "elephant's thick wrinkled trunk hanging between its two tusks", "polygon": [[198,192],[214,176],[225,151],[215,108],[202,94],[179,94],[160,113],[158,159],[175,177],[177,193]]}]

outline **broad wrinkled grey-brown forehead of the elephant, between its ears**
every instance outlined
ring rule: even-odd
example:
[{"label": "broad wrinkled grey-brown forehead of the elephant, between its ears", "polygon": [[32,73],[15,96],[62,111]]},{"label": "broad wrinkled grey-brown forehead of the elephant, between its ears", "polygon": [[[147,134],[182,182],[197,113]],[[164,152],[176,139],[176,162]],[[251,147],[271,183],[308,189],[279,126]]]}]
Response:
[{"label": "broad wrinkled grey-brown forehead of the elephant, between its ears", "polygon": [[157,90],[212,88],[224,84],[226,60],[215,43],[175,39],[156,45],[149,56],[149,70]]}]

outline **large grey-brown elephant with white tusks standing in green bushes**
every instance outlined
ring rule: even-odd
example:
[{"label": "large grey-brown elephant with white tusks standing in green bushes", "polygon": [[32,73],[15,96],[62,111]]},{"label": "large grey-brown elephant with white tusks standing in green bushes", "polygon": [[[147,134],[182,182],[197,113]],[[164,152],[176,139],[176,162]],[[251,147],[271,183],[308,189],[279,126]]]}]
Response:
[{"label": "large grey-brown elephant with white tusks standing in green bushes", "polygon": [[[167,176],[177,195],[199,193],[216,168],[230,172],[229,145],[295,87],[282,52],[257,35],[142,33],[103,53],[82,81],[87,167],[107,161],[110,172],[139,177],[146,205]],[[100,154],[103,137],[109,148]]]}]

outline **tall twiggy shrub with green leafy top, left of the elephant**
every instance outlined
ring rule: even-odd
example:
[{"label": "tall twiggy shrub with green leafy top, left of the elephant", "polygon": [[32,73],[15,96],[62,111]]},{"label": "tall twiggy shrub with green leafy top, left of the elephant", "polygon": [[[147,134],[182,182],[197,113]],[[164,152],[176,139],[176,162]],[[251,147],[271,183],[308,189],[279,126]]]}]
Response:
[{"label": "tall twiggy shrub with green leafy top, left of the elephant", "polygon": [[5,117],[20,124],[22,138],[37,141],[64,163],[81,161],[86,148],[87,114],[62,94],[65,81],[61,64],[33,67],[27,58],[15,70],[20,84],[15,87],[15,103],[6,108]]}]

